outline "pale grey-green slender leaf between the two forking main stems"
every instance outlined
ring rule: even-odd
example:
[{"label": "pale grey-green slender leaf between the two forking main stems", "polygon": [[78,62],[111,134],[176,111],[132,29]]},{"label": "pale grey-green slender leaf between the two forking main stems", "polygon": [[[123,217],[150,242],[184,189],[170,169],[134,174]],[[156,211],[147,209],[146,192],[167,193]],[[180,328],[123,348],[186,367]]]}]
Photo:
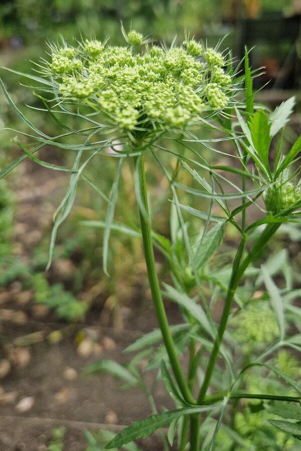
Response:
[{"label": "pale grey-green slender leaf between the two forking main stems", "polygon": [[193,316],[197,322],[214,338],[214,330],[212,329],[203,308],[193,301],[187,294],[181,293],[168,284],[163,283],[163,286],[166,289],[164,295],[186,309],[191,316]]}]

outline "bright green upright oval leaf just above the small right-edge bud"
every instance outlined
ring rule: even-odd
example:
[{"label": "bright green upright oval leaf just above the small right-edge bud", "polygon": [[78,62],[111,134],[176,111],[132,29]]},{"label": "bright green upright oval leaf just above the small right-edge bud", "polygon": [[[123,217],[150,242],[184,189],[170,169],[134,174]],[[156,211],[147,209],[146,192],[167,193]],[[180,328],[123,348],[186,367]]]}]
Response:
[{"label": "bright green upright oval leaf just above the small right-edge bud", "polygon": [[269,170],[268,152],[271,143],[270,123],[262,110],[257,110],[249,125],[254,148],[264,167]]}]

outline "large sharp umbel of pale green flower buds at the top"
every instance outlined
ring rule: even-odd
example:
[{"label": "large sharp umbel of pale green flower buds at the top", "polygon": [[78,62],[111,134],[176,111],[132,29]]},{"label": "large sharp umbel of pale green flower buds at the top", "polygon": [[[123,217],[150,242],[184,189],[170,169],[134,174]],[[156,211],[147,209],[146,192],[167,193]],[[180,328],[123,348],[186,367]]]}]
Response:
[{"label": "large sharp umbel of pale green flower buds at the top", "polygon": [[[220,111],[231,95],[222,54],[194,40],[184,47],[148,46],[135,31],[129,44],[85,41],[77,49],[52,50],[47,73],[61,101],[76,100],[99,110],[124,130],[185,128],[204,111]],[[133,46],[145,44],[144,52]]]}]

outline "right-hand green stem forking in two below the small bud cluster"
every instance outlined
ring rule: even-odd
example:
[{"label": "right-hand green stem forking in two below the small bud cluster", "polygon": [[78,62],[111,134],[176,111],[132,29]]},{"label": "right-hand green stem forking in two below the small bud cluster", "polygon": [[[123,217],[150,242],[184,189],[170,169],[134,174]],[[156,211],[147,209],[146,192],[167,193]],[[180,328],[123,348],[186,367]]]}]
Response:
[{"label": "right-hand green stem forking in two below the small bud cluster", "polygon": [[204,377],[203,383],[200,388],[200,392],[199,392],[199,396],[198,396],[198,400],[197,400],[198,404],[201,404],[204,401],[204,398],[206,396],[206,392],[209,387],[209,383],[210,383],[210,380],[211,380],[211,377],[213,374],[215,362],[216,362],[216,359],[219,354],[219,349],[221,346],[221,342],[222,342],[224,332],[226,329],[226,325],[228,322],[228,318],[230,315],[232,301],[233,301],[233,298],[235,295],[235,291],[240,282],[240,279],[242,278],[242,276],[243,276],[245,270],[247,269],[247,267],[249,266],[249,264],[260,254],[260,252],[262,251],[262,249],[264,248],[264,246],[266,245],[268,240],[274,235],[274,233],[276,232],[276,230],[279,227],[280,227],[279,223],[268,224],[266,226],[266,228],[264,229],[264,231],[262,232],[262,234],[257,239],[257,241],[255,242],[255,244],[253,245],[253,247],[251,248],[251,250],[249,251],[249,253],[247,254],[247,256],[245,257],[245,259],[241,262],[242,257],[243,257],[243,252],[244,252],[244,246],[245,246],[245,236],[242,237],[242,240],[240,242],[238,251],[237,251],[235,259],[234,259],[231,279],[230,279],[230,283],[228,286],[227,296],[226,296],[225,305],[224,305],[223,313],[222,313],[221,320],[220,320],[220,325],[219,325],[219,328],[217,331],[217,336],[215,338],[214,345],[213,345],[213,348],[211,351],[211,355],[209,358],[205,377]]}]

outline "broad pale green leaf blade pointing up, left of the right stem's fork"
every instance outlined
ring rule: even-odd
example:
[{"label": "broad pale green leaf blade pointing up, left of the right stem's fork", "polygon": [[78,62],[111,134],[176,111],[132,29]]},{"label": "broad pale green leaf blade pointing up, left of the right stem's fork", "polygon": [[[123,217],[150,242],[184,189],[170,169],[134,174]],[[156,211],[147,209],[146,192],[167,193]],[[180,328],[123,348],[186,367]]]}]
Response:
[{"label": "broad pale green leaf blade pointing up, left of the right stem's fork", "polygon": [[196,270],[202,268],[221,244],[225,232],[225,222],[220,222],[210,229],[201,238],[198,248],[193,256]]}]

